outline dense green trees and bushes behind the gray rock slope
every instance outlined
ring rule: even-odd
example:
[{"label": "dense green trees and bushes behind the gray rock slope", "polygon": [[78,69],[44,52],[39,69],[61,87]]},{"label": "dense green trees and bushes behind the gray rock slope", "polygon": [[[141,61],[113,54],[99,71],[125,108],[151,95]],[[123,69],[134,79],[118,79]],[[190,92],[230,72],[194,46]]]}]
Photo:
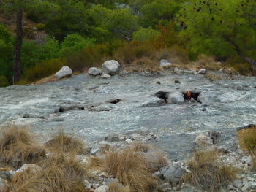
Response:
[{"label": "dense green trees and bushes behind the gray rock slope", "polygon": [[[244,73],[256,59],[256,2],[252,0],[3,2],[1,12],[10,20],[20,6],[34,23],[34,28],[23,28],[23,82],[48,76],[64,64],[82,71],[115,57],[125,47],[138,50],[140,44],[156,50],[177,47],[191,60],[203,53],[229,65],[232,61]],[[7,28],[0,26],[0,86],[11,85],[13,78],[15,34]],[[127,58],[124,54],[120,60],[125,62],[123,58]]]}]

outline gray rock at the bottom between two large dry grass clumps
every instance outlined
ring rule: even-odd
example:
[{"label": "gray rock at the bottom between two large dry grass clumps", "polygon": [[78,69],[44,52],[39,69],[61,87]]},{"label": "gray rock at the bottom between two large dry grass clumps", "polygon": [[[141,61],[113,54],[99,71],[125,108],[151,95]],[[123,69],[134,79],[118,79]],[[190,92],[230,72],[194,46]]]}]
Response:
[{"label": "gray rock at the bottom between two large dry grass clumps", "polygon": [[172,185],[176,185],[181,180],[181,177],[186,173],[186,170],[181,168],[181,166],[174,165],[170,166],[163,175],[165,177],[165,181],[170,182]]}]

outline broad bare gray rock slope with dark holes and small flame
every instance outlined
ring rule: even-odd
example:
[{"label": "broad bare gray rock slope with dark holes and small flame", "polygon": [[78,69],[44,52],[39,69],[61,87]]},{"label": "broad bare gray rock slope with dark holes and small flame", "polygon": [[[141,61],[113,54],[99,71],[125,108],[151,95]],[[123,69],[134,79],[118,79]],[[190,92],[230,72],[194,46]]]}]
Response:
[{"label": "broad bare gray rock slope with dark holes and small flame", "polygon": [[[88,146],[111,132],[135,132],[144,127],[156,134],[153,145],[165,150],[169,158],[179,160],[192,155],[198,134],[221,130],[223,145],[230,152],[236,151],[236,128],[256,123],[256,78],[211,82],[203,75],[165,73],[153,77],[129,74],[104,80],[80,74],[44,85],[0,88],[0,126],[29,126],[41,143],[61,127],[88,142]],[[175,83],[177,78],[181,83]],[[160,106],[141,107],[151,99],[159,99],[154,97],[157,91],[180,94],[187,90],[200,92],[202,103],[165,104],[160,100]],[[122,100],[118,104],[105,103],[117,98]],[[85,109],[56,113],[59,107],[70,106]],[[108,106],[111,110],[97,111],[87,106]],[[30,115],[23,118],[24,114]]]}]

